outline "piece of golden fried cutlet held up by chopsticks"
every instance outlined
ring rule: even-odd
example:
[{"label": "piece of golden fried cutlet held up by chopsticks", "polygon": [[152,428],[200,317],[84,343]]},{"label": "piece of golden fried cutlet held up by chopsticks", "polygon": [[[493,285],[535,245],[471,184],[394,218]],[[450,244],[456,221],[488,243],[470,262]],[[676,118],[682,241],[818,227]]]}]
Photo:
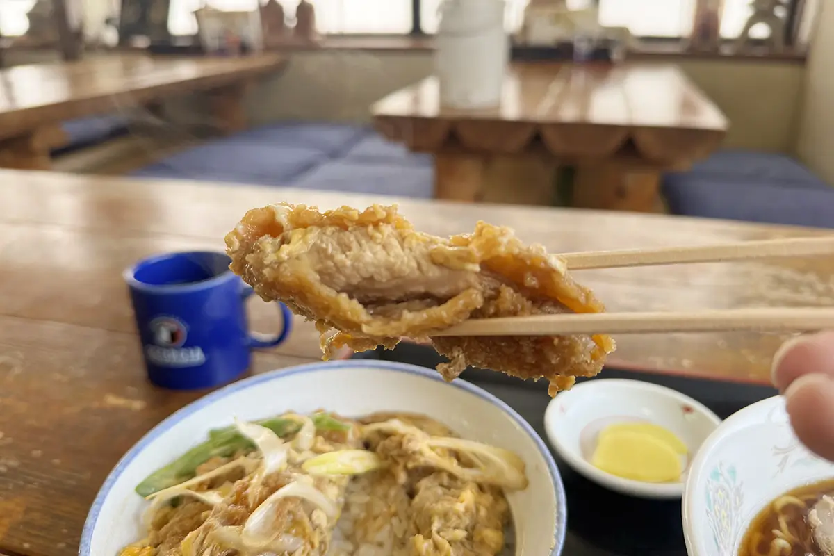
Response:
[{"label": "piece of golden fried cutlet held up by chopsticks", "polygon": [[479,222],[474,233],[438,238],[415,231],[396,207],[319,213],[279,203],[246,213],[226,246],[232,271],[261,298],[316,321],[324,359],[342,346],[429,338],[450,359],[438,366],[446,380],[472,365],[546,378],[552,396],[599,373],[614,350],[604,335],[432,337],[467,318],[604,310],[561,258],[523,245],[510,228]]}]

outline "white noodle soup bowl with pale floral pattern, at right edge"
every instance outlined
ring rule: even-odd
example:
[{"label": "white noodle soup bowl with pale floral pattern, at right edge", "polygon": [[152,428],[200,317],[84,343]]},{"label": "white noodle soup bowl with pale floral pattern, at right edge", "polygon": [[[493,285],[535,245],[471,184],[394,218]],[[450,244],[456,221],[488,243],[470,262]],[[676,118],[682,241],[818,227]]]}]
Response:
[{"label": "white noodle soup bowl with pale floral pattern, at right edge", "polygon": [[692,462],[683,494],[690,556],[736,556],[756,513],[792,488],[834,478],[793,433],[781,396],[727,418]]}]

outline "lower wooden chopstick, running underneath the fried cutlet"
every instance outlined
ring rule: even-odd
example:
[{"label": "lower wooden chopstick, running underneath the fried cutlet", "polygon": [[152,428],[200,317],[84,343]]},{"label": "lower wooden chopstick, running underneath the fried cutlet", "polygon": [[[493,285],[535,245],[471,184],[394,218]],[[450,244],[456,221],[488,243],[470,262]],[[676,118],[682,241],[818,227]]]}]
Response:
[{"label": "lower wooden chopstick, running underneath the fried cutlet", "polygon": [[680,313],[564,313],[473,318],[430,336],[552,336],[717,332],[810,332],[834,328],[834,308],[741,308]]}]

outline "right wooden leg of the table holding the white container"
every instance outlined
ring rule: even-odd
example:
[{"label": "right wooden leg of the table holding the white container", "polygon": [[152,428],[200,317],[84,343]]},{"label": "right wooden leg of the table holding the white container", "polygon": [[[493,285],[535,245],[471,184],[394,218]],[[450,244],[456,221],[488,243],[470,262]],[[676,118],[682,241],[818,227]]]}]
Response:
[{"label": "right wooden leg of the table holding the white container", "polygon": [[576,168],[573,205],[578,208],[656,213],[661,208],[660,170],[599,163]]}]

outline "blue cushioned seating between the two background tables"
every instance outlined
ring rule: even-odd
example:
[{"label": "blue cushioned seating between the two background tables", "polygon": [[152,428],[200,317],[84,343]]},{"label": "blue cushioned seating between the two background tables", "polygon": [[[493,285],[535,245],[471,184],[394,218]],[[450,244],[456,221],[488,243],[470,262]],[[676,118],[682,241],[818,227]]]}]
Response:
[{"label": "blue cushioned seating between the two background tables", "polygon": [[137,177],[254,183],[431,198],[434,168],[371,129],[341,123],[278,123],[190,148]]}]

